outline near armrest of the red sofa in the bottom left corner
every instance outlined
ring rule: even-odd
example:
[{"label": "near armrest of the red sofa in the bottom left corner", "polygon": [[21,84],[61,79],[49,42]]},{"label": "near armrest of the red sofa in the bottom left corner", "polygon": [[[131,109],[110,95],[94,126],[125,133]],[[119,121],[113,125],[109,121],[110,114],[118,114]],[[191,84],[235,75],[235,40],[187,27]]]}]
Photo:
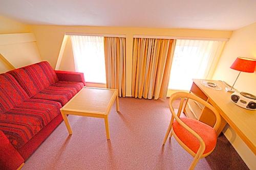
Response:
[{"label": "near armrest of the red sofa in the bottom left corner", "polygon": [[0,169],[14,170],[24,163],[23,157],[0,131]]}]

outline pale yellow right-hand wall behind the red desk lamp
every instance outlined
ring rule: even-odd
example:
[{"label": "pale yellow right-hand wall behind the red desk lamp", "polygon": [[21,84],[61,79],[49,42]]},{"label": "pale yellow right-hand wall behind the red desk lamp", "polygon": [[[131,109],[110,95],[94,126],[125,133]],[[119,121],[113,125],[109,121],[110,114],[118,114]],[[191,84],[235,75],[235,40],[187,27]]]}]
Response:
[{"label": "pale yellow right-hand wall behind the red desk lamp", "polygon": [[[256,23],[233,32],[219,60],[214,79],[224,80],[232,85],[239,71],[229,67],[237,57],[256,59]],[[234,87],[256,95],[256,72],[241,72]]]}]

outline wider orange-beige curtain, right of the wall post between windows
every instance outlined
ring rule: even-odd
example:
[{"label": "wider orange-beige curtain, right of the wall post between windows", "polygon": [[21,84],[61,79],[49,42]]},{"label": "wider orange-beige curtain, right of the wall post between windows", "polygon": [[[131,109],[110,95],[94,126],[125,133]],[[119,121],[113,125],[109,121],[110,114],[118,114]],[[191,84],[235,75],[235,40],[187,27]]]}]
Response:
[{"label": "wider orange-beige curtain, right of the wall post between windows", "polygon": [[134,38],[132,96],[166,98],[176,40]]}]

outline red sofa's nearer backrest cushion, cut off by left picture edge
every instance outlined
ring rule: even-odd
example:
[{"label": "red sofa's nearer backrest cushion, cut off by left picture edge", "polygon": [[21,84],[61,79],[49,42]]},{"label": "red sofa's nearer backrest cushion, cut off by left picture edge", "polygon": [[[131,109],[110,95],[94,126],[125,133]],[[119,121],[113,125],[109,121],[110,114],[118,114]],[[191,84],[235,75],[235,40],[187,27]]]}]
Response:
[{"label": "red sofa's nearer backrest cushion, cut off by left picture edge", "polygon": [[0,114],[27,99],[29,99],[28,94],[11,75],[0,74]]}]

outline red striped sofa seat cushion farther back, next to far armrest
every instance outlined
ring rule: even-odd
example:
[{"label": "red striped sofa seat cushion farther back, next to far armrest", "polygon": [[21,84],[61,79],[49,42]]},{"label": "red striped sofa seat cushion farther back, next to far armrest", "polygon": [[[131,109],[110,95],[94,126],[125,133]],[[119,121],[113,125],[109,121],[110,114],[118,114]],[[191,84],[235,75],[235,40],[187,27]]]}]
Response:
[{"label": "red striped sofa seat cushion farther back, next to far armrest", "polygon": [[34,95],[33,99],[56,101],[64,106],[83,87],[81,82],[59,81]]}]

